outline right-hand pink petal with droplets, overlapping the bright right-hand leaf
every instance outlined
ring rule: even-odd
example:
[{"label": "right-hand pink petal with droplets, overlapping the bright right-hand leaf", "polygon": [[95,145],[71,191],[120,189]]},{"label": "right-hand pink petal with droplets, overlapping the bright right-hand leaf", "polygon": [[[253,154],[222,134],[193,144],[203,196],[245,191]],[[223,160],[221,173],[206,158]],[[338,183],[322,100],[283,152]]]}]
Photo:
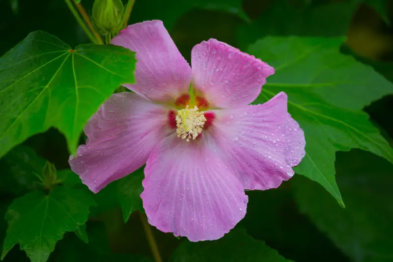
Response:
[{"label": "right-hand pink petal with droplets, overlapping the bright right-hand leaf", "polygon": [[213,111],[208,130],[246,189],[278,187],[305,155],[304,132],[287,112],[281,92],[263,105]]}]

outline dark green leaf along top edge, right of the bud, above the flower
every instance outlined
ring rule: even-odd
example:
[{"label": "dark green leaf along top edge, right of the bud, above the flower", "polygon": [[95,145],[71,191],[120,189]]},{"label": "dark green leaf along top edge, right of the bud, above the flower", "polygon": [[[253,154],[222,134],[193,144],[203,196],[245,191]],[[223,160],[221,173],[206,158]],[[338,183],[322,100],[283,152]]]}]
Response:
[{"label": "dark green leaf along top edge, right of the bud, above the flower", "polygon": [[199,8],[228,12],[248,23],[251,22],[243,11],[241,0],[150,0],[135,2],[130,23],[158,19],[164,22],[167,29],[170,29],[180,16]]}]

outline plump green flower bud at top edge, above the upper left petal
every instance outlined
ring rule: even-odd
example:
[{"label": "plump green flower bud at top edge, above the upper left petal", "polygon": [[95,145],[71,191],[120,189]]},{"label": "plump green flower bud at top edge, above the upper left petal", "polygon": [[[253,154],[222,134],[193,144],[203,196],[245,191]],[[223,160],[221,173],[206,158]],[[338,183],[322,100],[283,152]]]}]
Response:
[{"label": "plump green flower bud at top edge, above the upper left petal", "polygon": [[95,0],[92,10],[93,25],[102,35],[115,35],[121,29],[123,3],[121,0]]}]

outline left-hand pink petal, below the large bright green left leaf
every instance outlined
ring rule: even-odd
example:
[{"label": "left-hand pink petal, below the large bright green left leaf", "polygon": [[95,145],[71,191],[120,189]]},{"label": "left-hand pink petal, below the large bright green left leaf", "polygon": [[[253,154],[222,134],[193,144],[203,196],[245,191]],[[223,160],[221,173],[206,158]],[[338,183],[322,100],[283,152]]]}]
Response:
[{"label": "left-hand pink petal, below the large bright green left leaf", "polygon": [[168,109],[132,93],[112,95],[85,126],[86,145],[71,156],[71,169],[97,193],[147,160],[170,130]]}]

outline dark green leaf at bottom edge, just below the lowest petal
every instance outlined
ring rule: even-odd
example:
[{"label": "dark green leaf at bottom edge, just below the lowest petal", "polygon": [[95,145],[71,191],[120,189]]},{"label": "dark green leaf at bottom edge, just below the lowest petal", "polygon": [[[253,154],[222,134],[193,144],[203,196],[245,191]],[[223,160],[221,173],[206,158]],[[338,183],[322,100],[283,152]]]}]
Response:
[{"label": "dark green leaf at bottom edge, just below the lowest petal", "polygon": [[243,229],[231,230],[214,241],[184,241],[172,254],[170,262],[289,262],[263,241],[253,239]]}]

